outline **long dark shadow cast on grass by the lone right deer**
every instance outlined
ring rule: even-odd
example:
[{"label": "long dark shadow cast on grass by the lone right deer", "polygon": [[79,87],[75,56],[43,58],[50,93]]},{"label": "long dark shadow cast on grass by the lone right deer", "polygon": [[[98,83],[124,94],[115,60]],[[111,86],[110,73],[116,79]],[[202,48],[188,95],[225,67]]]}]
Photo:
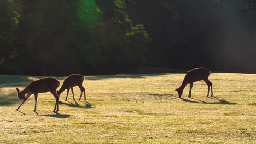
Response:
[{"label": "long dark shadow cast on grass by the lone right deer", "polygon": [[196,103],[196,104],[224,104],[224,105],[236,105],[237,103],[230,103],[224,99],[219,99],[217,97],[209,97],[211,99],[216,99],[218,100],[218,102],[206,102],[206,101],[202,101],[202,100],[198,100],[198,99],[195,99],[195,98],[190,98],[190,99],[194,99],[194,100],[197,100],[197,101],[193,101],[193,100],[189,100],[189,99],[184,99],[184,98],[181,98],[183,101],[185,102],[189,102],[189,103]]}]

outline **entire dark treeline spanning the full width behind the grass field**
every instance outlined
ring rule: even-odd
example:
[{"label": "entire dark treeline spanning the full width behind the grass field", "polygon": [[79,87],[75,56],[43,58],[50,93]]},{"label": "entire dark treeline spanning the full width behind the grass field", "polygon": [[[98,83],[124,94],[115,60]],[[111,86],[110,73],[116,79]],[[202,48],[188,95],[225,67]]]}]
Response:
[{"label": "entire dark treeline spanning the full width behind the grass field", "polygon": [[255,73],[254,0],[2,0],[0,73]]}]

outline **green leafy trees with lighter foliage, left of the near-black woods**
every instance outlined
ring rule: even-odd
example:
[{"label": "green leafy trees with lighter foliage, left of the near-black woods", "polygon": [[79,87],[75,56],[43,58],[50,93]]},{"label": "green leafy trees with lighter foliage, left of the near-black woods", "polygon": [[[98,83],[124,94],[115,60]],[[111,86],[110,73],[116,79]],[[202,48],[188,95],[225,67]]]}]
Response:
[{"label": "green leafy trees with lighter foliage, left of the near-black woods", "polygon": [[[143,25],[132,25],[125,1],[1,2],[8,16],[4,20],[15,28],[14,34],[8,25],[0,30],[2,37],[14,37],[1,43],[1,50],[8,49],[3,49],[4,69],[27,75],[104,74],[146,62],[149,35]],[[9,15],[12,11],[15,15]],[[14,64],[8,62],[11,57]]]}]

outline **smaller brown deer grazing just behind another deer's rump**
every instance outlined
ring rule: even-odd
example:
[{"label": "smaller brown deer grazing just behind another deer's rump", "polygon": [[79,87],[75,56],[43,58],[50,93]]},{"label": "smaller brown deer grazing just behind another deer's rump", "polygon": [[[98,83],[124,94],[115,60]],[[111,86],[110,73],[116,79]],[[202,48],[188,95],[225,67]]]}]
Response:
[{"label": "smaller brown deer grazing just behind another deer's rump", "polygon": [[[67,97],[68,97],[69,90],[71,89],[71,92],[73,94],[73,100],[75,101],[73,87],[78,86],[81,90],[79,101],[81,100],[83,92],[84,92],[84,101],[85,101],[86,96],[85,96],[85,88],[82,86],[83,82],[84,82],[84,76],[83,75],[80,75],[80,74],[69,75],[64,80],[63,85],[61,86],[60,90],[57,91],[57,94],[61,95],[61,93],[63,91],[65,91],[65,89],[67,89]],[[67,101],[67,97],[66,97],[65,101]]]}]

